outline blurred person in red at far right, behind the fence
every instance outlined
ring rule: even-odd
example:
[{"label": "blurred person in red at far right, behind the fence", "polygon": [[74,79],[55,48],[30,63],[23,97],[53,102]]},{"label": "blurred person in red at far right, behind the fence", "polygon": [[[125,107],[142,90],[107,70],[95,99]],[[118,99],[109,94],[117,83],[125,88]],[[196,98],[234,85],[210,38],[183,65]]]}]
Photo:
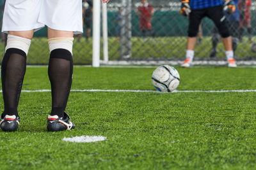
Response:
[{"label": "blurred person in red at far right, behind the fence", "polygon": [[252,25],[251,25],[251,10],[252,1],[251,0],[239,0],[239,10],[240,10],[240,23],[239,23],[239,39],[242,41],[242,36],[244,32],[244,27],[246,27],[248,32],[249,41],[252,41]]}]

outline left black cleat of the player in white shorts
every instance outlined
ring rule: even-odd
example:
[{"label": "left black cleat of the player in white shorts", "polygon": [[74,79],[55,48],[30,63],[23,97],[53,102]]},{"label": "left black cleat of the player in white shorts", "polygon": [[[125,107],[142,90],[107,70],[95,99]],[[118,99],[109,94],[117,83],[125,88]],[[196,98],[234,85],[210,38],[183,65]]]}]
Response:
[{"label": "left black cleat of the player in white shorts", "polygon": [[4,132],[13,132],[17,131],[20,124],[20,118],[15,115],[5,115],[4,118],[1,118],[0,128]]}]

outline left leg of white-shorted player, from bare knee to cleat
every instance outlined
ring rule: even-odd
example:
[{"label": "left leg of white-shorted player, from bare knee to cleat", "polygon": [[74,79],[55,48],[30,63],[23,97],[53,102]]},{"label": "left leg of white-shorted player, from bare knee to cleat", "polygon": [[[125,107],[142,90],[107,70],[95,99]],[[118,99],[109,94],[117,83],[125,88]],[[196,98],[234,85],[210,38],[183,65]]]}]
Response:
[{"label": "left leg of white-shorted player, from bare knee to cleat", "polygon": [[19,127],[18,104],[28,54],[31,31],[9,31],[5,53],[1,65],[4,111],[1,115],[1,129],[16,131]]}]

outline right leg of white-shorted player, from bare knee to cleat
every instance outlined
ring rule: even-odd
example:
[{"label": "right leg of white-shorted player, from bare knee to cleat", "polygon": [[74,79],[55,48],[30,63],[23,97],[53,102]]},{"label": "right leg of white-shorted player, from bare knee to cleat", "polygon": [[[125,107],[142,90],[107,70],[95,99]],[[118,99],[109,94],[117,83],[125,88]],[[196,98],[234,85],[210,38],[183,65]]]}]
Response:
[{"label": "right leg of white-shorted player, from bare knee to cleat", "polygon": [[52,110],[48,117],[49,131],[73,129],[65,108],[72,84],[72,31],[58,31],[48,28],[50,59],[48,67],[49,80],[52,89]]}]

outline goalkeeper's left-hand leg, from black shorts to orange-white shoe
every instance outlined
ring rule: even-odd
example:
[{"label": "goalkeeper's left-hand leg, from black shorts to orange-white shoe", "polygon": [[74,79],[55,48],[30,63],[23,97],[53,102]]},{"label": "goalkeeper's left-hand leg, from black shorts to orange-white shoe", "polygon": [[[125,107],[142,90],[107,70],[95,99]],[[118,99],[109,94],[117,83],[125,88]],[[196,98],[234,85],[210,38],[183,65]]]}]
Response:
[{"label": "goalkeeper's left-hand leg, from black shorts to orange-white shoe", "polygon": [[198,34],[198,29],[202,18],[204,18],[205,10],[192,10],[189,15],[189,28],[188,28],[188,38],[187,38],[187,50],[186,50],[186,60],[182,63],[182,67],[190,67],[194,58],[194,49],[196,45],[196,36]]}]

